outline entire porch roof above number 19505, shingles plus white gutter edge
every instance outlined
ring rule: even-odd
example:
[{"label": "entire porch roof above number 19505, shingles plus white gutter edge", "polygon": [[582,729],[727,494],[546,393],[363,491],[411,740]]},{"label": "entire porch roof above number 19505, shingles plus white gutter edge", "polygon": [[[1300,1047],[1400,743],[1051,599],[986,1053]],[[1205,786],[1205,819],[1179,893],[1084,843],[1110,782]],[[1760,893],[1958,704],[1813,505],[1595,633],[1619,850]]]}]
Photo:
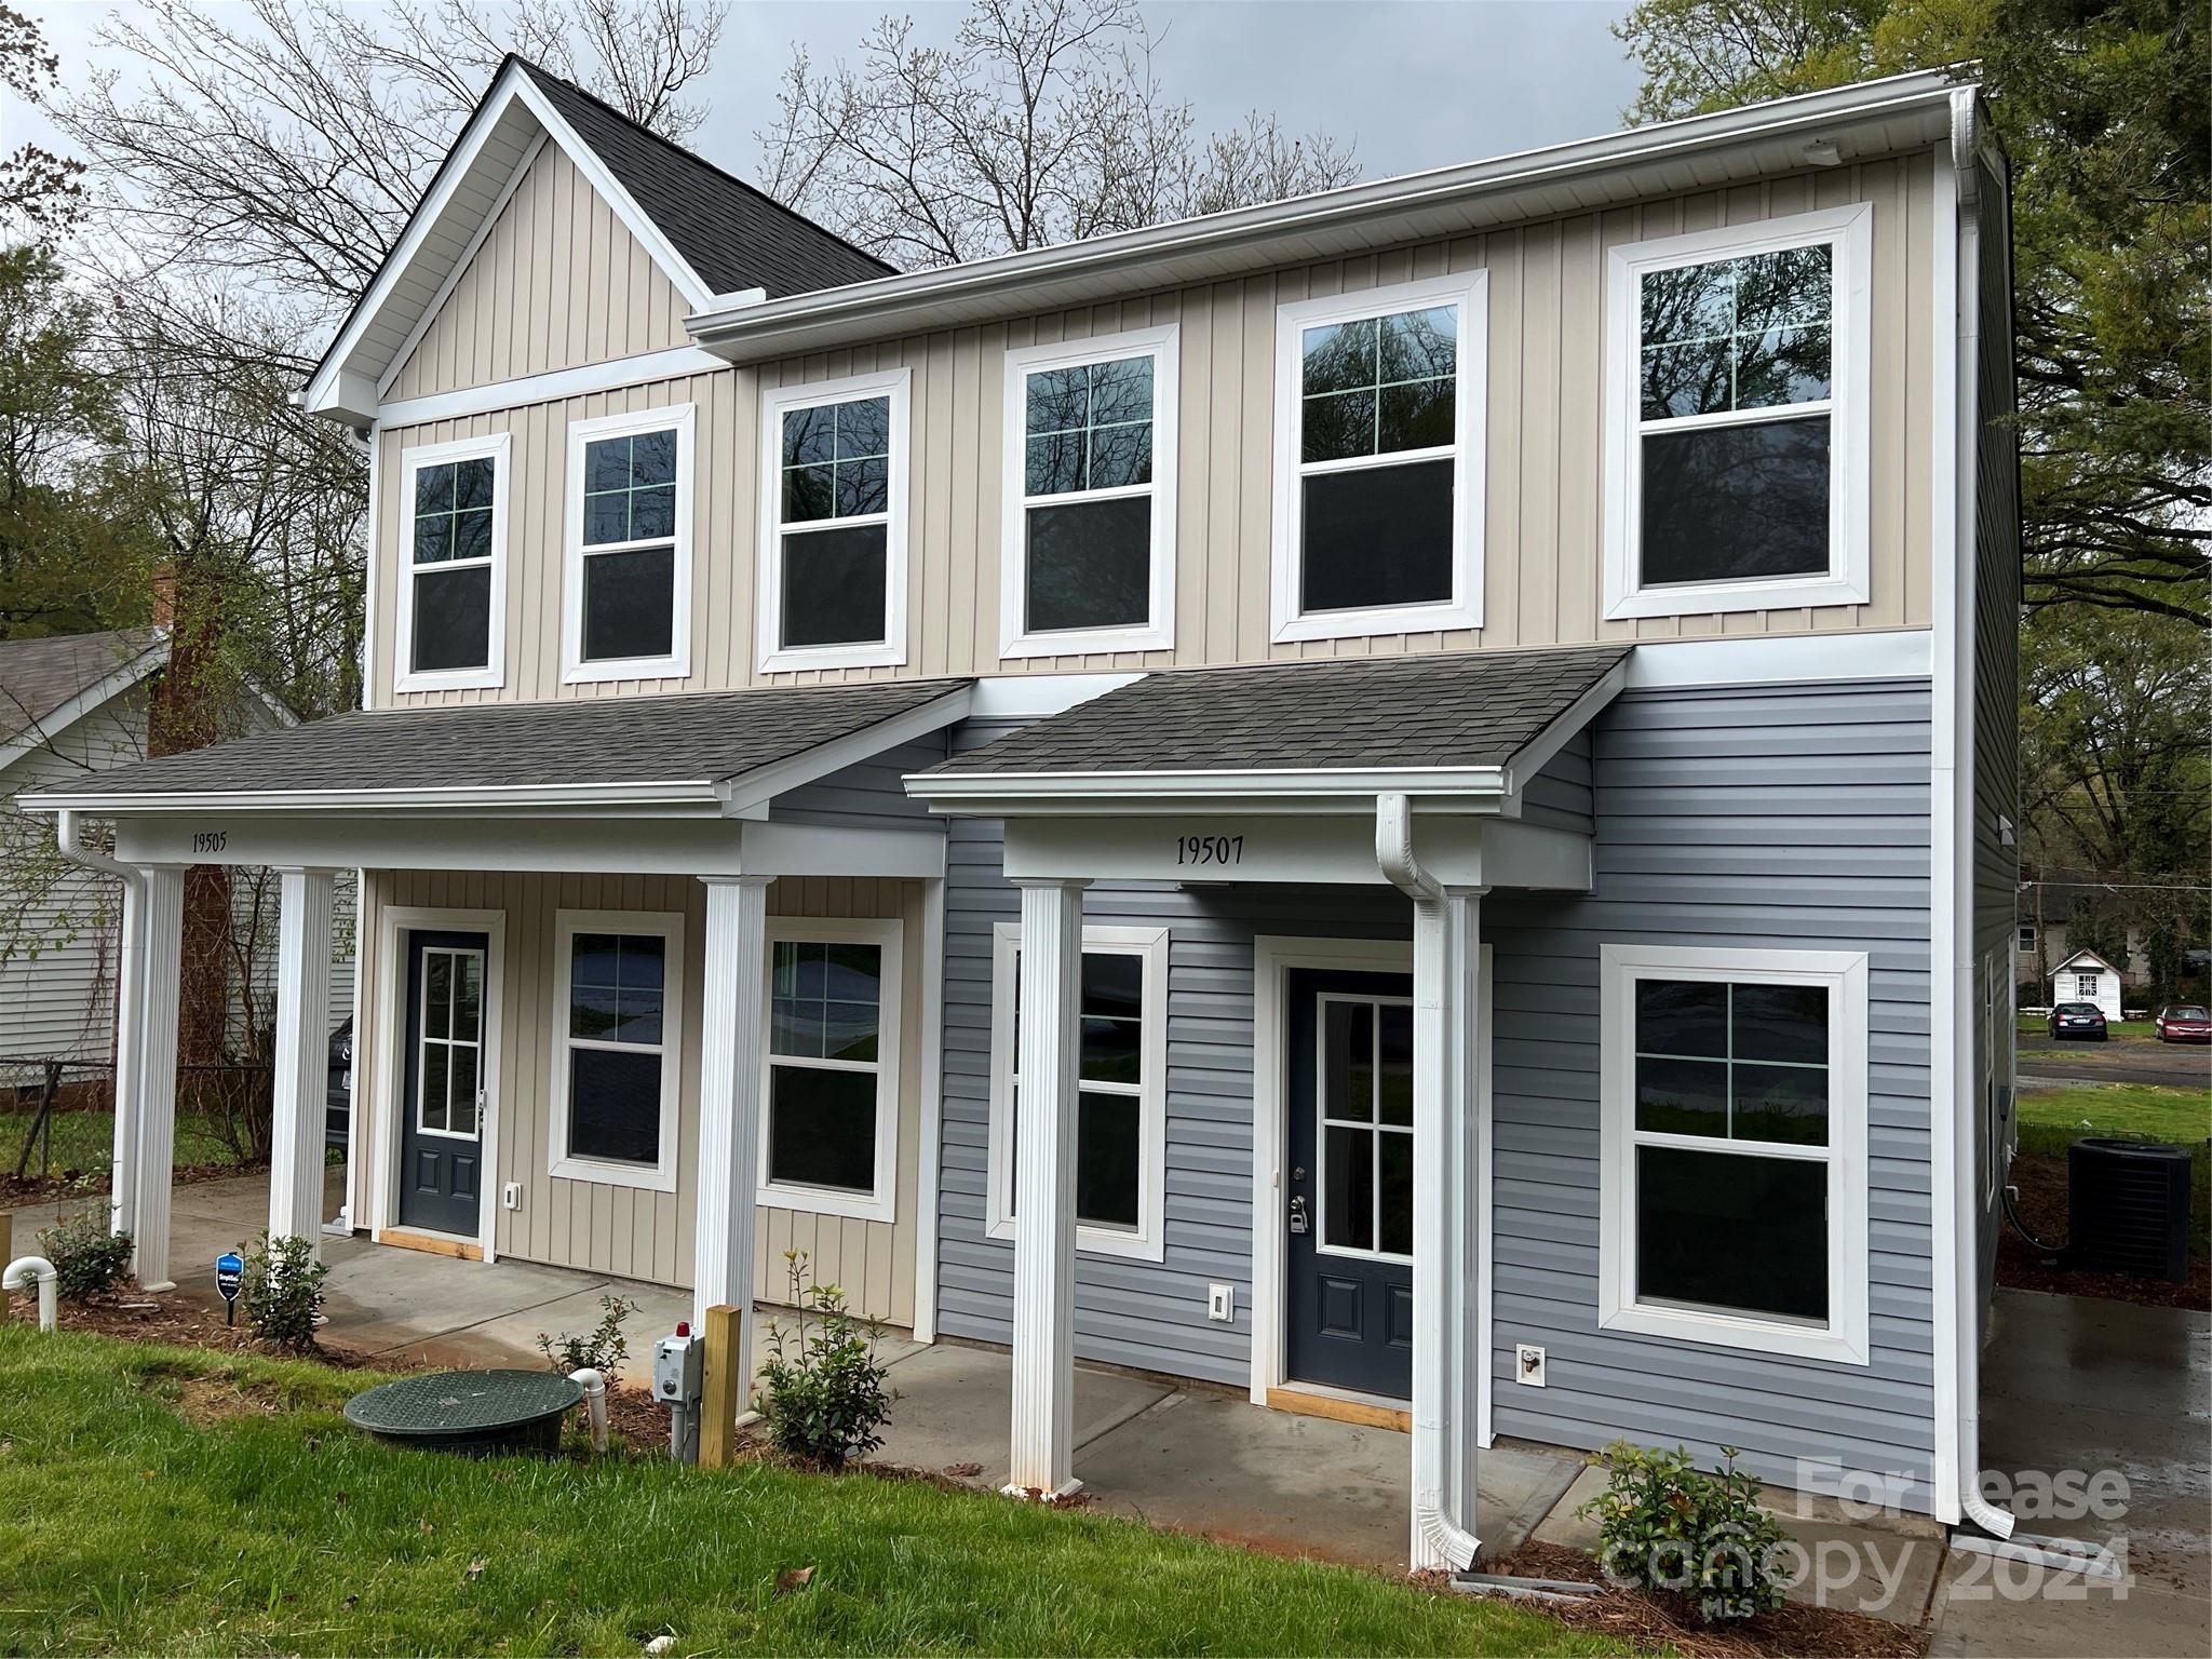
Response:
[{"label": "entire porch roof above number 19505, shingles plus white gutter edge", "polygon": [[467,703],[336,714],[24,796],[113,814],[653,807],[743,816],[958,721],[971,681]]}]

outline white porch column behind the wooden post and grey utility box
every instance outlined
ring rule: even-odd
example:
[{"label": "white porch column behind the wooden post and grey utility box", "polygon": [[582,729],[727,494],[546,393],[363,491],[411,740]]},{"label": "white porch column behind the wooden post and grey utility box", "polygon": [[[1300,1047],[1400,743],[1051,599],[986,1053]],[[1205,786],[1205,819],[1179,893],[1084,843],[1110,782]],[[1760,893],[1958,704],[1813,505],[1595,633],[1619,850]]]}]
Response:
[{"label": "white porch column behind the wooden post and grey utility box", "polygon": [[761,1179],[761,1088],[768,1073],[768,883],[701,876],[706,980],[699,1024],[699,1219],[692,1329],[714,1303],[737,1323],[739,1409],[752,1405],[752,1194]]}]

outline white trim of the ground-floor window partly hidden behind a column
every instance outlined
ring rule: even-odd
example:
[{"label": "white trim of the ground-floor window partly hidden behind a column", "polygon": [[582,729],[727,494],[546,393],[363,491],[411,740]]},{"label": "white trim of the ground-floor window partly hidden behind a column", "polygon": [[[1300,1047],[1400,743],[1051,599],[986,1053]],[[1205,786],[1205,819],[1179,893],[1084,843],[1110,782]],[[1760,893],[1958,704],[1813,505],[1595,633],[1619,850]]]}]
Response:
[{"label": "white trim of the ground-floor window partly hidden behind a column", "polygon": [[[991,936],[991,1135],[989,1239],[1013,1239],[1013,978],[1020,922]],[[1168,929],[1084,927],[1084,951],[1144,958],[1144,1046],[1137,1084],[1137,1230],[1077,1223],[1075,1248],[1093,1256],[1164,1261],[1168,1254]],[[1079,995],[1079,991],[1077,991]]]}]

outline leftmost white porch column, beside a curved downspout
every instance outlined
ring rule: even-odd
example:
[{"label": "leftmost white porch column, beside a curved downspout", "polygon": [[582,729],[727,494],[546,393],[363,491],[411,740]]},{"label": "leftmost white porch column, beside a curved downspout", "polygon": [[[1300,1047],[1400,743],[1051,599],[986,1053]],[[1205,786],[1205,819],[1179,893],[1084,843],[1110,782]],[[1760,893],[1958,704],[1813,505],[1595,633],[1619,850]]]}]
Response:
[{"label": "leftmost white porch column, beside a curved downspout", "polygon": [[139,865],[124,883],[115,967],[115,1168],[111,1230],[131,1234],[139,1290],[168,1276],[168,1188],[177,1175],[177,995],[184,962],[184,869]]}]

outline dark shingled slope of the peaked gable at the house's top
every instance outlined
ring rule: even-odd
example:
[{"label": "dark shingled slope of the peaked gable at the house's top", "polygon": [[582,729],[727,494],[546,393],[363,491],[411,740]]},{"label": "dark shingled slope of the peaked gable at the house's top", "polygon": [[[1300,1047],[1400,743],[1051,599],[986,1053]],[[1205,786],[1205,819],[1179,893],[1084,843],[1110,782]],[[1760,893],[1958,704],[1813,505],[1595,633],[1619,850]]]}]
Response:
[{"label": "dark shingled slope of the peaked gable at the house's top", "polygon": [[520,62],[560,117],[606,161],[717,294],[765,288],[770,299],[894,276],[896,268],[734,179],[591,93]]}]

